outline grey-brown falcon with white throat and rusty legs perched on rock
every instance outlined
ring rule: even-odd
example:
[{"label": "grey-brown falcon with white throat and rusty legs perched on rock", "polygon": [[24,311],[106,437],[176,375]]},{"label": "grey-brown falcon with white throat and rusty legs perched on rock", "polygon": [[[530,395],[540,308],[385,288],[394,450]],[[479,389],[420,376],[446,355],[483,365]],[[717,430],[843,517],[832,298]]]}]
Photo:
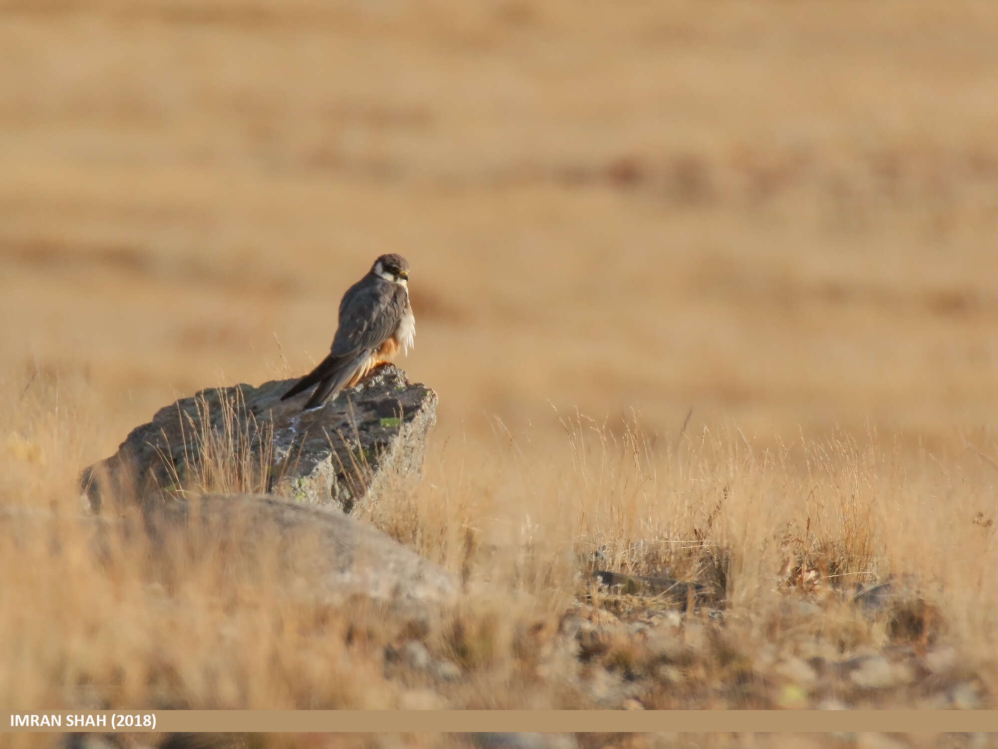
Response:
[{"label": "grey-brown falcon with white throat and rusty legs perched on rock", "polygon": [[409,304],[409,262],[382,255],[370,271],[343,294],[329,356],[291,385],[286,400],[317,384],[302,410],[323,406],[343,387],[352,387],[375,367],[387,364],[401,349],[408,354],[416,336]]}]

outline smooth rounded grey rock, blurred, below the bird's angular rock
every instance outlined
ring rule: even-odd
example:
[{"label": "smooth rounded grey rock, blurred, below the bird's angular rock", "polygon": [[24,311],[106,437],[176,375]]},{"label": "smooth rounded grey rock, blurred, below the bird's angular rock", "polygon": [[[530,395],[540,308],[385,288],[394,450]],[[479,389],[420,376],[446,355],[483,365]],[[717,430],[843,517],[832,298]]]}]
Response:
[{"label": "smooth rounded grey rock, blurred, below the bird's angular rock", "polygon": [[0,531],[10,543],[45,539],[53,554],[90,548],[101,568],[139,564],[159,582],[211,570],[220,589],[237,590],[265,578],[295,600],[342,607],[364,598],[427,624],[460,589],[454,575],[362,520],[268,494],[147,502],[122,517],[4,507]]}]

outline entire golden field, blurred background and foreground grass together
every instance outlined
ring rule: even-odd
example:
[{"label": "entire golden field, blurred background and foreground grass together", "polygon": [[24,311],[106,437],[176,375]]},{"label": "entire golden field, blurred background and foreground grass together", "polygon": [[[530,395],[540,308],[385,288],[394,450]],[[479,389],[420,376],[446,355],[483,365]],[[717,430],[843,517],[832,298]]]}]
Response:
[{"label": "entire golden field, blurred background and foreground grass together", "polygon": [[[556,628],[585,592],[573,554],[605,546],[628,573],[731,563],[717,636],[740,654],[645,707],[816,707],[821,679],[781,702],[758,642],[773,662],[843,631],[839,654],[897,645],[844,609],[786,614],[815,595],[777,589],[789,557],[825,588],[920,580],[944,624],[913,647],[952,648],[993,706],[998,6],[10,0],[0,60],[5,504],[75,512],[79,469],[159,407],[303,374],[342,292],[398,252],[399,364],[439,420],[423,483],[371,519],[510,596],[428,635],[473,674],[440,704],[615,706],[524,675],[544,648],[524,632]],[[269,626],[276,583],[234,608],[198,578],[161,616],[127,557],[106,577],[47,553],[3,552],[14,708],[81,684],[410,704],[371,655],[389,624],[344,671],[341,638]],[[618,644],[611,670],[644,657]],[[757,688],[716,689],[732,662]],[[923,681],[839,698],[925,706]]]}]

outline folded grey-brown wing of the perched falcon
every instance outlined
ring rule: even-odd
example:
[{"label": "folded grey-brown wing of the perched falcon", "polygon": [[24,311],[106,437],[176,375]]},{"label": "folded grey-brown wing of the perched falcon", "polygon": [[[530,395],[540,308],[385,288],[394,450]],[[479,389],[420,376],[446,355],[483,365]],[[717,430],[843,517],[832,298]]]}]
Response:
[{"label": "folded grey-brown wing of the perched falcon", "polygon": [[332,340],[333,357],[348,357],[377,349],[398,328],[405,314],[404,287],[383,279],[364,280],[350,287],[339,304],[339,327]]}]

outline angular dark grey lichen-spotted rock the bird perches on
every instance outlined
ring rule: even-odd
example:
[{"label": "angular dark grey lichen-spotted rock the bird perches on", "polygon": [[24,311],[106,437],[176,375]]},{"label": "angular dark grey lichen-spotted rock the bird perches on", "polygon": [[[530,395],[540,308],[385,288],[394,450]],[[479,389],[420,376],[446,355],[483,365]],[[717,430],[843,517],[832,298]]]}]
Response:
[{"label": "angular dark grey lichen-spotted rock the bird perches on", "polygon": [[263,491],[349,512],[418,479],[436,393],[394,366],[307,412],[294,379],[202,390],[161,408],[81,477],[95,511],[186,490]]}]

